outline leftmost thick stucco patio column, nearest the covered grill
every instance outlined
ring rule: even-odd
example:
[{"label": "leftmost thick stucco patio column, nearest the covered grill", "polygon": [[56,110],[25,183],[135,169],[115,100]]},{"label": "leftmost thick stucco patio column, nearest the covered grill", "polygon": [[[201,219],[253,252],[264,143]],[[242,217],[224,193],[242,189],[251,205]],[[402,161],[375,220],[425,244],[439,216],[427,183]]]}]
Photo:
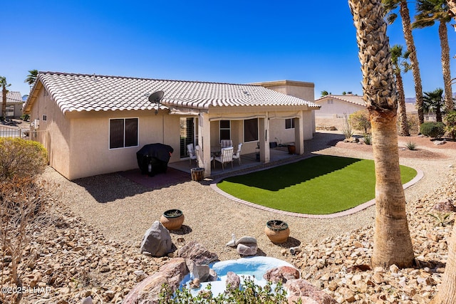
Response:
[{"label": "leftmost thick stucco patio column, nearest the covered grill", "polygon": [[198,164],[204,168],[204,177],[211,175],[211,123],[209,114],[200,112],[198,117]]}]

